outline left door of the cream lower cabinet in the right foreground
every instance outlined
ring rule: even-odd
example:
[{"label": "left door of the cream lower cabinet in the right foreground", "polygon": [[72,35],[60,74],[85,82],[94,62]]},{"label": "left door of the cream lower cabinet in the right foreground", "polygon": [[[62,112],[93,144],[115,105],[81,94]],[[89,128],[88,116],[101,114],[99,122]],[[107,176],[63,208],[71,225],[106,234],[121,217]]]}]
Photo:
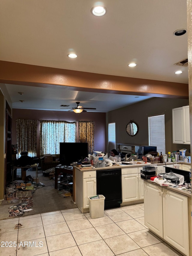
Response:
[{"label": "left door of the cream lower cabinet in the right foreground", "polygon": [[144,182],[144,221],[152,231],[163,237],[162,188]]}]

